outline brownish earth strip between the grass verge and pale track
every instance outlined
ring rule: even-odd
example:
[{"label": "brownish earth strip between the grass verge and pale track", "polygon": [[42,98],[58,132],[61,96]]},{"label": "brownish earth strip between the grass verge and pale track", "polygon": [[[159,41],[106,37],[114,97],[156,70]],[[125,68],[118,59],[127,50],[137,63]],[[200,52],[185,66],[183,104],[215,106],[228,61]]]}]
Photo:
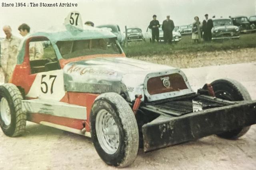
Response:
[{"label": "brownish earth strip between the grass verge and pale track", "polygon": [[137,56],[132,58],[157,64],[171,65],[177,68],[194,68],[256,62],[256,48],[220,50],[215,52],[176,52],[175,54],[164,56]]}]

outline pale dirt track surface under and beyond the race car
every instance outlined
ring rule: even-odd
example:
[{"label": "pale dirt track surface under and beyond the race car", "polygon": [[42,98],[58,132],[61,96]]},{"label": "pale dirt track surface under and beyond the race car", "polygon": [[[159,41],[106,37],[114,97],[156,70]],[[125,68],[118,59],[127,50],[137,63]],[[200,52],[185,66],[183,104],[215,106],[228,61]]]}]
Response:
[{"label": "pale dirt track surface under and beyond the race car", "polygon": [[[183,69],[192,88],[218,78],[241,82],[256,100],[256,63]],[[90,138],[28,123],[22,137],[0,130],[0,170],[113,170],[100,159]],[[255,170],[256,126],[238,140],[208,136],[144,153],[129,170]]]}]

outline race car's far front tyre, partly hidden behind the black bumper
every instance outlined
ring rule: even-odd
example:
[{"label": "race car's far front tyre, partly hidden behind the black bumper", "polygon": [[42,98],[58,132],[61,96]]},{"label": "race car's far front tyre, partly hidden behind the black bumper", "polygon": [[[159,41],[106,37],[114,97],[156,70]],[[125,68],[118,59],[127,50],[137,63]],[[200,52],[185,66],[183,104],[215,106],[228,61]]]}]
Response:
[{"label": "race car's far front tyre, partly hidden behind the black bumper", "polygon": [[[214,94],[217,98],[229,101],[252,100],[246,88],[238,81],[231,79],[219,79],[211,83]],[[238,128],[217,134],[221,138],[236,139],[250,129],[250,126]]]}]

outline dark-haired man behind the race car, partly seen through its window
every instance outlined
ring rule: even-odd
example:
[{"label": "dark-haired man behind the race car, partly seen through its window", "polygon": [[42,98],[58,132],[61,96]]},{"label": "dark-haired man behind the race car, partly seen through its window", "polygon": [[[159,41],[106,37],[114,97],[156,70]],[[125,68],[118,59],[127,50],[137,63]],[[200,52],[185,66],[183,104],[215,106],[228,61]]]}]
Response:
[{"label": "dark-haired man behind the race car, partly seen through its window", "polygon": [[[18,30],[20,31],[20,35],[23,36],[22,43],[20,45],[20,48],[22,47],[24,40],[30,35],[30,27],[28,24],[21,24],[18,27]],[[29,43],[29,57],[30,60],[38,60],[42,59],[44,56],[44,47],[42,42],[30,42]]]}]

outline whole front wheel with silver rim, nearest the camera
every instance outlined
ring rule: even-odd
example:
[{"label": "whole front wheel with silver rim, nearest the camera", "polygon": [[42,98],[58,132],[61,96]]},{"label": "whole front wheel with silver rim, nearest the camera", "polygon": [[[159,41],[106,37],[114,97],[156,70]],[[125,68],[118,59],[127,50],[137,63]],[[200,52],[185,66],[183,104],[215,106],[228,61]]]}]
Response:
[{"label": "whole front wheel with silver rim, nearest the camera", "polygon": [[90,112],[90,126],[94,147],[106,164],[122,168],[134,162],[138,125],[124,98],[116,93],[98,96]]}]

